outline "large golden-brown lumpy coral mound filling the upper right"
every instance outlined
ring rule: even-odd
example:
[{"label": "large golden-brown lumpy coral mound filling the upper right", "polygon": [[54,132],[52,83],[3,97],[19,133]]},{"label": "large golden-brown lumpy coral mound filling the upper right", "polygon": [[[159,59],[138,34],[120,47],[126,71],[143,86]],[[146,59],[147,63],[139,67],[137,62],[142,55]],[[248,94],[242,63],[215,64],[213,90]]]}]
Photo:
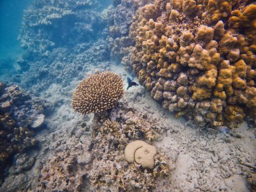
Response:
[{"label": "large golden-brown lumpy coral mound filling the upper right", "polygon": [[256,5],[155,0],[133,17],[129,63],[162,106],[199,126],[256,119]]}]

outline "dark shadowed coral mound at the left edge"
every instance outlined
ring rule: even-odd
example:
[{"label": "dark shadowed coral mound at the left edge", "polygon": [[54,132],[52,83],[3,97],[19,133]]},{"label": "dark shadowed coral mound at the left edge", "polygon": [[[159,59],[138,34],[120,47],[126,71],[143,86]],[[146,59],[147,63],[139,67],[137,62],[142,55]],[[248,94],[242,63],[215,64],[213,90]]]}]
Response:
[{"label": "dark shadowed coral mound at the left edge", "polygon": [[32,100],[18,86],[0,82],[0,184],[11,158],[36,146],[34,130],[42,125],[43,113],[40,100]]}]

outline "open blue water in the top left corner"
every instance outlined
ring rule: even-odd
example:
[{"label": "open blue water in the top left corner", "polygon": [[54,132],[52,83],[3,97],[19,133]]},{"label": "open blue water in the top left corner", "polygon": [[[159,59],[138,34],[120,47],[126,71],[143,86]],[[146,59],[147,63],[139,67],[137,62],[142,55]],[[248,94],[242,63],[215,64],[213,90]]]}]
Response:
[{"label": "open blue water in the top left corner", "polygon": [[32,1],[0,1],[0,75],[10,72],[9,70],[13,73],[17,70],[18,65],[15,65],[15,62],[24,53],[18,35],[24,9],[27,9]]}]

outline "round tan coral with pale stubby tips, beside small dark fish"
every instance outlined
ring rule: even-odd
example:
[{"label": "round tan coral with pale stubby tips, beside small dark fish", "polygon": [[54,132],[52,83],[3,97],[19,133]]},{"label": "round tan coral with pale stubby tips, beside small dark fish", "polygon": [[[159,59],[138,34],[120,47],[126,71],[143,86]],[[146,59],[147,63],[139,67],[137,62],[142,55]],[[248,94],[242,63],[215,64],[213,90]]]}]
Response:
[{"label": "round tan coral with pale stubby tips, beside small dark fish", "polygon": [[119,75],[111,71],[96,73],[75,88],[72,107],[84,115],[99,113],[113,108],[123,92],[123,80]]}]

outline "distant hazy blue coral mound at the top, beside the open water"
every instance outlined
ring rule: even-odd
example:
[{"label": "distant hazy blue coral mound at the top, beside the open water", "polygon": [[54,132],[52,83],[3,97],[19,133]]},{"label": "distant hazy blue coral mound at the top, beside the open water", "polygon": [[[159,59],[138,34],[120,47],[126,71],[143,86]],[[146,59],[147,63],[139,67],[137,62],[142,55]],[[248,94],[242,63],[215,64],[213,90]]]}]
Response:
[{"label": "distant hazy blue coral mound at the top, beside the open water", "polygon": [[[106,26],[97,1],[35,1],[24,12],[19,39],[36,57],[49,56],[57,47],[94,41]],[[58,32],[55,30],[58,29]]]}]

